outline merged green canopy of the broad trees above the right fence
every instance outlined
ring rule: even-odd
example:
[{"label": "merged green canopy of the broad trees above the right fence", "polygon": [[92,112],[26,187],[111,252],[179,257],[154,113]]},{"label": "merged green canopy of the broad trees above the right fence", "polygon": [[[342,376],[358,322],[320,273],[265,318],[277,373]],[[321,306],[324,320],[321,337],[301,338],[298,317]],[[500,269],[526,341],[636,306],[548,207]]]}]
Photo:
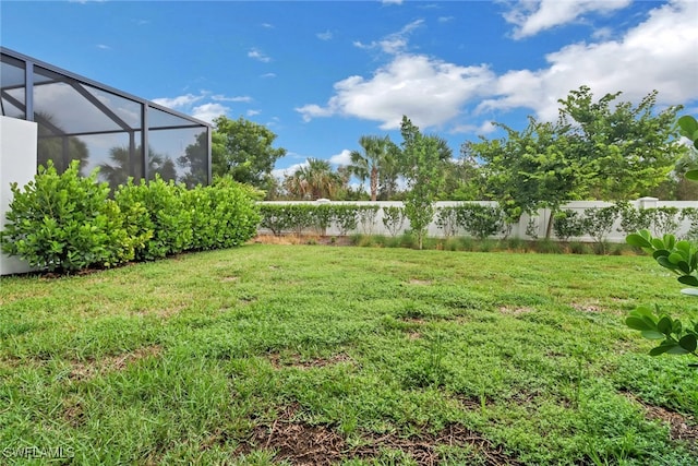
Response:
[{"label": "merged green canopy of the broad trees above the right fence", "polygon": [[556,211],[564,201],[651,194],[687,151],[675,126],[681,106],[654,112],[657,92],[637,106],[615,103],[619,95],[594,100],[582,86],[559,100],[557,122],[529,117],[522,131],[495,123],[504,138],[480,138],[461,152],[479,162],[485,192],[510,220],[541,207]]}]

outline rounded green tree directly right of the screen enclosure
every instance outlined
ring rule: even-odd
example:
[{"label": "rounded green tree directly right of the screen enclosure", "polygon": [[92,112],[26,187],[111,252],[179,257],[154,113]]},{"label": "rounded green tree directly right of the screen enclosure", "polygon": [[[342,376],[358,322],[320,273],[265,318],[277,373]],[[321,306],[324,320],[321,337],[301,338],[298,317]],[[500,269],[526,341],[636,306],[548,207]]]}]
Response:
[{"label": "rounded green tree directly right of the screen enclosure", "polygon": [[212,134],[212,170],[214,175],[230,175],[236,181],[265,189],[274,164],[286,150],[273,147],[276,134],[268,128],[240,117],[214,119]]}]

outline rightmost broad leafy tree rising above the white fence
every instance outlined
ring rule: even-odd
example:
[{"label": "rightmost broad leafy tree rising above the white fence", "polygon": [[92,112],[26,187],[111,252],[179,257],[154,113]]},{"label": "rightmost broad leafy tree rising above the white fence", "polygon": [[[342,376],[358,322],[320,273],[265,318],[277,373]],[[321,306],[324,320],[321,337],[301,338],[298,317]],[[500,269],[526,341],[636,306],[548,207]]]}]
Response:
[{"label": "rightmost broad leafy tree rising above the white fence", "polygon": [[686,152],[675,127],[682,106],[655,112],[657,91],[635,107],[622,93],[593,99],[581,86],[558,100],[559,123],[567,128],[570,158],[589,171],[592,196],[619,201],[649,194],[666,179]]}]

